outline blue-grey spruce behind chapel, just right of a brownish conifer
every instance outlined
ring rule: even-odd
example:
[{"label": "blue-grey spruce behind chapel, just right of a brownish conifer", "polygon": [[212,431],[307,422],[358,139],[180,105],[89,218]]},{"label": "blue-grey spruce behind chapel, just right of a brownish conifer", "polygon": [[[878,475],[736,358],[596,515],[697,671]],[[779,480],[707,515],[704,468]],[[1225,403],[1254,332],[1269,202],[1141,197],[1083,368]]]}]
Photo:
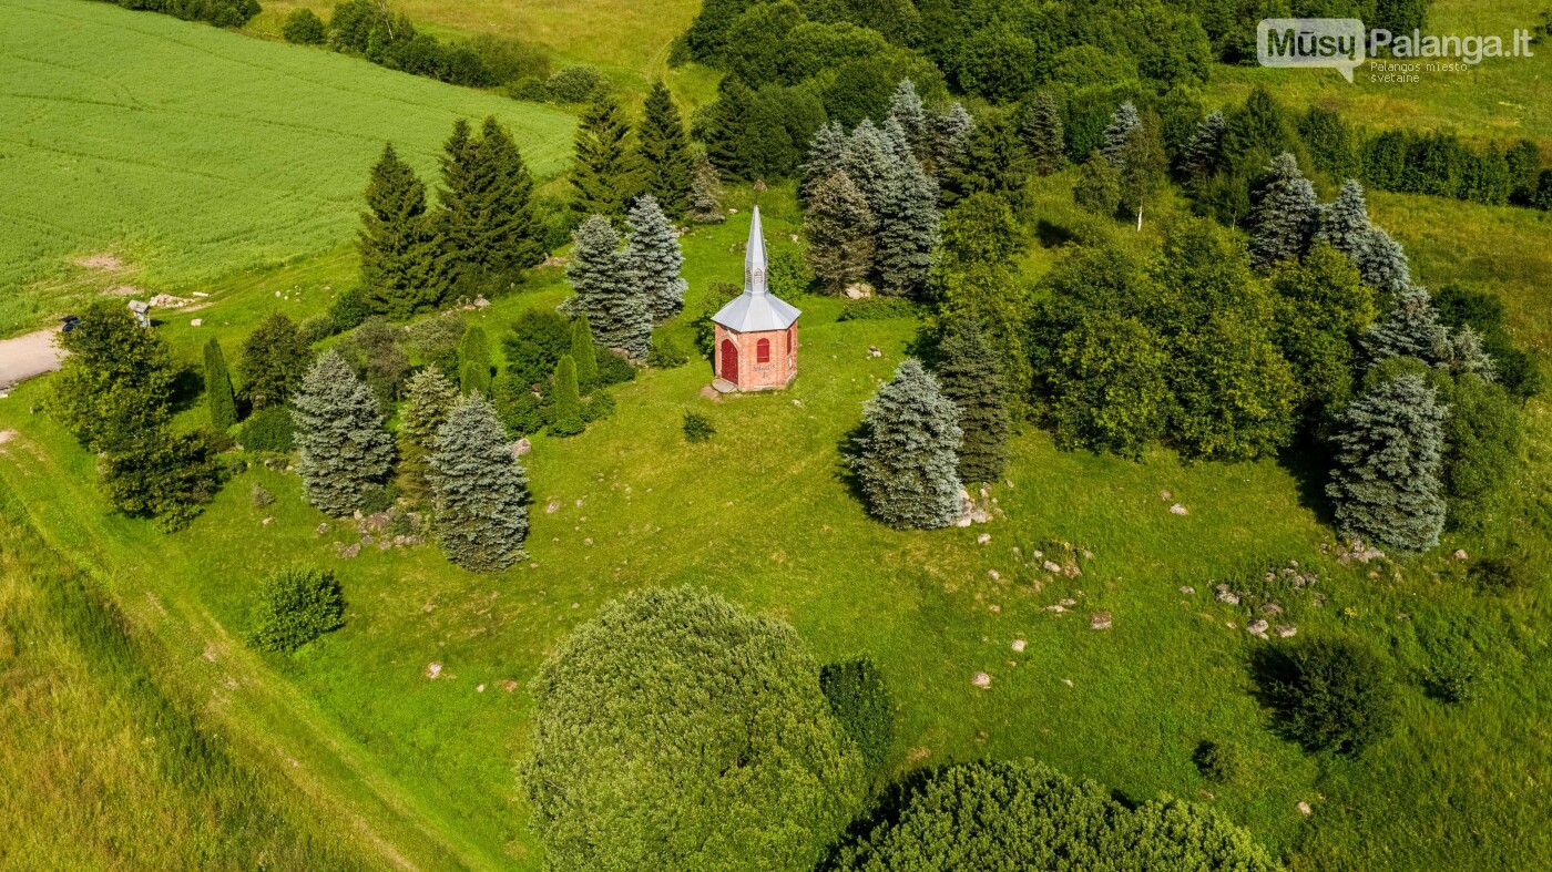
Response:
[{"label": "blue-grey spruce behind chapel, just right of a brownish conifer", "polygon": [[922,296],[937,248],[937,183],[914,160],[896,161],[877,209],[875,264],[885,293]]}]

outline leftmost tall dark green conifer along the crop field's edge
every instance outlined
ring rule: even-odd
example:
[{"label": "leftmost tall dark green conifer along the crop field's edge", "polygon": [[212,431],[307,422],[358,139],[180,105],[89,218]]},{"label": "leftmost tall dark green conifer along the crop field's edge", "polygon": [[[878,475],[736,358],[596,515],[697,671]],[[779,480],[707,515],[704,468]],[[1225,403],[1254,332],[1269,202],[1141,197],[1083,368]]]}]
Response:
[{"label": "leftmost tall dark green conifer along the crop field's edge", "polygon": [[404,321],[442,301],[445,244],[427,213],[425,185],[393,144],[383,147],[366,186],[360,253],[362,293],[372,312]]}]

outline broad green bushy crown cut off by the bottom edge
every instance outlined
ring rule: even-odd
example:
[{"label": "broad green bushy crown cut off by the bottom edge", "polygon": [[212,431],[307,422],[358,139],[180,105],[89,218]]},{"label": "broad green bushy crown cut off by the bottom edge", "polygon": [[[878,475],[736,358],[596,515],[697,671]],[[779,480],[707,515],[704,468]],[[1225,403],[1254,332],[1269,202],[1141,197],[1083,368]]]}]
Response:
[{"label": "broad green bushy crown cut off by the bottom edge", "polygon": [[1093,782],[1034,760],[958,763],[906,788],[840,852],[855,872],[1221,869],[1277,866],[1249,833],[1212,808],[1155,801],[1128,808]]}]

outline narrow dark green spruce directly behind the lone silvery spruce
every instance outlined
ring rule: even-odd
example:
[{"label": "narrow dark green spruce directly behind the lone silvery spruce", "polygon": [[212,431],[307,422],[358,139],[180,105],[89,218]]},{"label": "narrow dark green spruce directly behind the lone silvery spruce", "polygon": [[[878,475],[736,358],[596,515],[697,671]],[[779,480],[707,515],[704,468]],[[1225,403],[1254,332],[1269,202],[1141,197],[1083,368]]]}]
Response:
[{"label": "narrow dark green spruce directly behind the lone silvery spruce", "polygon": [[956,324],[939,346],[937,382],[959,408],[959,479],[996,481],[1007,465],[1007,385],[976,321]]}]

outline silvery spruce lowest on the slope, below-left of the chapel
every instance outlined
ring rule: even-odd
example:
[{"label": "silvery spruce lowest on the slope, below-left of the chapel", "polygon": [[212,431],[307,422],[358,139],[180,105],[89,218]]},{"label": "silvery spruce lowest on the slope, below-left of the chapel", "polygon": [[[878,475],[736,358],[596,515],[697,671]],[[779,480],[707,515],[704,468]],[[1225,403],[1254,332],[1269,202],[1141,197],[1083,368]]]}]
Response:
[{"label": "silvery spruce lowest on the slope, below-left of the chapel", "polygon": [[500,573],[523,554],[528,476],[483,396],[466,397],[438,428],[430,481],[436,542],[449,560],[470,573]]}]

